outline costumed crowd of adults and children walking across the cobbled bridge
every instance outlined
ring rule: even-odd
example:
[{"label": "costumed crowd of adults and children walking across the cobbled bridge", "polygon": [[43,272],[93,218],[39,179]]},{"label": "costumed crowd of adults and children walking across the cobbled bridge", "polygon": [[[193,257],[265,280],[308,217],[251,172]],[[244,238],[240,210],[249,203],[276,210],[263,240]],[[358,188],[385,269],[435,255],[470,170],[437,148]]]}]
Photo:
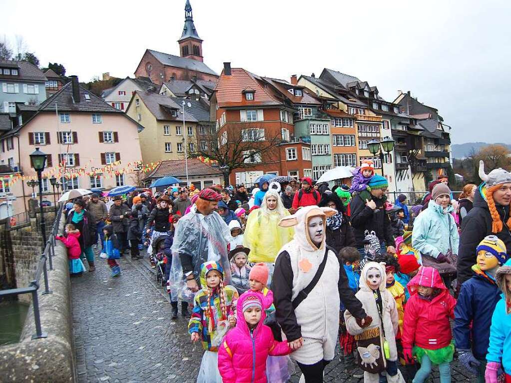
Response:
[{"label": "costumed crowd of adults and children walking across the cobbled bridge", "polygon": [[509,383],[511,174],[479,175],[457,200],[440,175],[413,204],[392,204],[370,161],[351,186],[263,176],[251,190],[92,194],[66,206],[58,239],[72,275],[95,270],[98,240],[112,277],[147,249],[172,319],[181,301],[202,343],[198,383],[286,382],[290,360],[322,382],[336,345],[364,382],[421,383],[436,365],[447,383],[457,354],[479,382]]}]

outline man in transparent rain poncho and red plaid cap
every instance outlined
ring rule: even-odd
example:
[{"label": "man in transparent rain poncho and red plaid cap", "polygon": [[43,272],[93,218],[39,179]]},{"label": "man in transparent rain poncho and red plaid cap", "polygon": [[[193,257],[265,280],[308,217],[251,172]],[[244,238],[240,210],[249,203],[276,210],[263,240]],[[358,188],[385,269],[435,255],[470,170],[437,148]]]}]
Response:
[{"label": "man in transparent rain poncho and red plaid cap", "polygon": [[196,210],[185,214],[177,224],[172,245],[172,267],[169,281],[172,298],[193,299],[199,290],[201,265],[216,261],[230,284],[227,243],[232,241],[229,227],[214,210],[221,200],[215,190],[206,188],[199,194]]}]

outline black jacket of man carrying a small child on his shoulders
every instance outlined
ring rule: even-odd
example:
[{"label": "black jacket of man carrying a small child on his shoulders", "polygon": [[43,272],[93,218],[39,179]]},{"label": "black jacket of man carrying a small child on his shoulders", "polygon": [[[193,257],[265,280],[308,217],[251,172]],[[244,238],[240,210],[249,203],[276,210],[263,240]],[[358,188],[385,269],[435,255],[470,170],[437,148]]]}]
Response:
[{"label": "black jacket of man carrying a small child on his shoulders", "polygon": [[[365,206],[366,200],[375,201],[376,209]],[[383,207],[386,200],[386,197],[378,199],[365,191],[353,196],[350,202],[350,219],[358,248],[364,247],[365,230],[374,231],[380,242],[385,242],[386,246],[395,246],[390,219]]]}]

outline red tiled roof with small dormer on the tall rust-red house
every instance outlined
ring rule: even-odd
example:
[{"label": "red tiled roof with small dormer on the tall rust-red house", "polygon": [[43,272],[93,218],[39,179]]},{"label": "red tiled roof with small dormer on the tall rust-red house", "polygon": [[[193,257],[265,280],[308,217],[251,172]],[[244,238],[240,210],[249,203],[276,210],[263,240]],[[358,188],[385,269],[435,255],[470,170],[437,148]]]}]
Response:
[{"label": "red tiled roof with small dormer on the tall rust-red house", "polygon": [[[265,89],[256,79],[257,76],[243,68],[232,68],[231,75],[224,75],[223,71],[215,88],[219,107],[226,106],[258,106],[281,105],[271,92]],[[253,88],[254,99],[247,101],[242,91]]]}]

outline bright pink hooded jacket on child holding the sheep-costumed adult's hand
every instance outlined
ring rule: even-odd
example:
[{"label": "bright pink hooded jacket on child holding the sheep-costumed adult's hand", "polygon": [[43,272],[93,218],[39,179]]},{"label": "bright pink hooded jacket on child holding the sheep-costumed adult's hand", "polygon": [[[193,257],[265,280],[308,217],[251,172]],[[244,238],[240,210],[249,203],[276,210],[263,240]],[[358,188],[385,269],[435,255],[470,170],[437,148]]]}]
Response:
[{"label": "bright pink hooded jacket on child holding the sheep-costumed adult's hand", "polygon": [[223,383],[266,383],[268,355],[287,355],[292,351],[287,342],[273,339],[271,329],[263,324],[266,317],[264,309],[261,320],[250,332],[243,316],[243,302],[249,296],[261,301],[259,294],[250,291],[240,296],[236,327],[227,332],[218,350],[218,370]]}]

